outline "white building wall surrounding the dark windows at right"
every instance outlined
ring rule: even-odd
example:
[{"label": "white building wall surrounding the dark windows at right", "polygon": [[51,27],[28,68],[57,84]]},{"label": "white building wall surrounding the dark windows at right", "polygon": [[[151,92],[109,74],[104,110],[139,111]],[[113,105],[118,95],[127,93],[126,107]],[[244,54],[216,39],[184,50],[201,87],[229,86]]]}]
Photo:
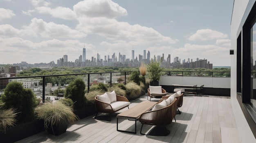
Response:
[{"label": "white building wall surrounding the dark windows at right", "polygon": [[[236,125],[241,143],[256,143],[256,139],[250,130],[245,116],[236,99],[236,40],[239,35],[238,29],[249,2],[255,0],[234,0],[234,7],[231,19],[231,49],[234,49],[234,55],[231,56],[231,105],[236,119]],[[251,4],[248,7],[252,7]],[[244,22],[242,22],[244,23]],[[240,29],[241,30],[241,29]],[[243,36],[243,35],[242,35]]]}]

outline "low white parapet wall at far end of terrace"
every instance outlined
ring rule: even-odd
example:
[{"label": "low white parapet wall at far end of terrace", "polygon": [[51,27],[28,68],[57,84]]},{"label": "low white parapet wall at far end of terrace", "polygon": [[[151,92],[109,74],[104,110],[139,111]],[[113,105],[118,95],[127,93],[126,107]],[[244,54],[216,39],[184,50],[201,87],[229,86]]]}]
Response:
[{"label": "low white parapet wall at far end of terrace", "polygon": [[163,75],[159,85],[171,86],[173,84],[194,86],[198,85],[207,88],[230,88],[230,77],[188,77]]}]

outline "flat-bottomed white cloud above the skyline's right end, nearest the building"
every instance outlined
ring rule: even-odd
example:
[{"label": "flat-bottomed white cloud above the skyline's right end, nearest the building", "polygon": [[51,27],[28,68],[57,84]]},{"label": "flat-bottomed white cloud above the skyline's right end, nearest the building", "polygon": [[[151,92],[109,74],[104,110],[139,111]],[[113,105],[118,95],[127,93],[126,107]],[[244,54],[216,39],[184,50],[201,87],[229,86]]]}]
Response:
[{"label": "flat-bottomed white cloud above the skyline's right end, nearest the building", "polygon": [[195,40],[216,40],[216,39],[223,39],[227,38],[227,34],[221,33],[219,31],[214,31],[211,29],[200,29],[196,31],[195,34],[191,35],[189,37],[189,40],[195,41]]}]

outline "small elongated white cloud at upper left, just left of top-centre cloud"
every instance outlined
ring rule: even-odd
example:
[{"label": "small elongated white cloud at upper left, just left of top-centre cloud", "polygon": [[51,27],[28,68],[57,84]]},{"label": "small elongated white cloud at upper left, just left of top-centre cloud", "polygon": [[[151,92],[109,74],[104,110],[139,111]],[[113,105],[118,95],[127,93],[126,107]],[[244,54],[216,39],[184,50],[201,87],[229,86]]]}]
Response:
[{"label": "small elongated white cloud at upper left, just left of top-centre cloud", "polygon": [[36,7],[39,13],[46,13],[52,15],[54,18],[61,18],[64,20],[74,20],[76,19],[76,13],[67,7],[56,7],[51,9],[49,7]]}]

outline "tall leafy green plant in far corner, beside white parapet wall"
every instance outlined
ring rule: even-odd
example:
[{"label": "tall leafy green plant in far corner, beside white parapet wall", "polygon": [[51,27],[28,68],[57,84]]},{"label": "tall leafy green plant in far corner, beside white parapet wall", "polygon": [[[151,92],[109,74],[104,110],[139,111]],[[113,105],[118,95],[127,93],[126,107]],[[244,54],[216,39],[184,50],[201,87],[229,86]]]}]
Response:
[{"label": "tall leafy green plant in far corner, beside white parapet wall", "polygon": [[162,59],[157,61],[155,56],[148,64],[148,78],[150,79],[150,85],[158,86],[160,77],[164,75],[164,68],[160,67]]}]

